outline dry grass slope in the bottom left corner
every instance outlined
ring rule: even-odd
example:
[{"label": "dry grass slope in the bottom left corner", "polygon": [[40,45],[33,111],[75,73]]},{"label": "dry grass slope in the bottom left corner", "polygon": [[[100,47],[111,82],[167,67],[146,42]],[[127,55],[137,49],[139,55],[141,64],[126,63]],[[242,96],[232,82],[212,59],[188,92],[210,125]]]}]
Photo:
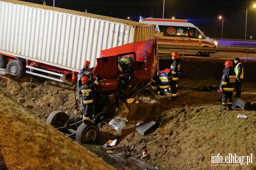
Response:
[{"label": "dry grass slope in the bottom left corner", "polygon": [[0,94],[0,169],[115,169]]}]

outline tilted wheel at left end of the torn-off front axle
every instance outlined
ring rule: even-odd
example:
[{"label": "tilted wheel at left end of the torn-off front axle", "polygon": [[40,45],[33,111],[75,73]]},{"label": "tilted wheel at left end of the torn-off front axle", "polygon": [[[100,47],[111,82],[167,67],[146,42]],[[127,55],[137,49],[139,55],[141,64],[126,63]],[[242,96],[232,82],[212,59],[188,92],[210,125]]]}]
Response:
[{"label": "tilted wheel at left end of the torn-off front axle", "polygon": [[46,124],[51,125],[54,128],[60,128],[65,126],[68,120],[69,116],[65,112],[54,111],[48,116]]}]

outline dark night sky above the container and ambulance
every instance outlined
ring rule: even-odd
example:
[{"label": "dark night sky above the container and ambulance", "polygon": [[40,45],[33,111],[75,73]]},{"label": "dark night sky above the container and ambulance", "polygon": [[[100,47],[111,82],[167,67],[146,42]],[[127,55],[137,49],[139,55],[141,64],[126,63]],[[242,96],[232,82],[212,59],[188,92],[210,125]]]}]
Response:
[{"label": "dark night sky above the container and ambulance", "polygon": [[[23,0],[43,4],[44,0]],[[88,13],[110,16],[114,18],[139,21],[139,16],[153,18],[175,17],[175,19],[191,19],[208,37],[221,38],[222,19],[223,39],[245,39],[245,20],[247,10],[246,39],[256,40],[256,0],[55,0],[55,7],[77,10]],[[46,0],[52,6],[53,0]]]}]

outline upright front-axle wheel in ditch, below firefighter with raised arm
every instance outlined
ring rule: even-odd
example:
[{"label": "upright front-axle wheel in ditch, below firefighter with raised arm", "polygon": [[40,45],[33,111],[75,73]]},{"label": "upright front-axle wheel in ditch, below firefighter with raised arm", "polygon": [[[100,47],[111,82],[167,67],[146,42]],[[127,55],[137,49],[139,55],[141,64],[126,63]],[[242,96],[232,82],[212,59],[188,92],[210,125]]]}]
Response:
[{"label": "upright front-axle wheel in ditch, below firefighter with raised arm", "polygon": [[76,140],[79,143],[86,143],[89,141],[94,141],[99,136],[99,129],[94,123],[84,124],[82,123],[76,133]]}]

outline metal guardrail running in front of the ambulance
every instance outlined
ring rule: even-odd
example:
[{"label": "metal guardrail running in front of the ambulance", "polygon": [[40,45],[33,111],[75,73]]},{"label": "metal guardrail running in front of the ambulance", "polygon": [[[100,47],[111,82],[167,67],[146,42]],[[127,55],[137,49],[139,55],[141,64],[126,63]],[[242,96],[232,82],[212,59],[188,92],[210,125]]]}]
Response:
[{"label": "metal guardrail running in front of the ambulance", "polygon": [[184,57],[184,52],[200,51],[200,52],[211,52],[214,53],[214,60],[216,52],[226,52],[226,53],[243,53],[246,54],[245,61],[247,61],[247,54],[256,54],[255,48],[225,48],[225,47],[197,47],[197,46],[176,46],[176,45],[158,45],[159,54],[170,53],[176,50],[182,50],[182,58]]}]

